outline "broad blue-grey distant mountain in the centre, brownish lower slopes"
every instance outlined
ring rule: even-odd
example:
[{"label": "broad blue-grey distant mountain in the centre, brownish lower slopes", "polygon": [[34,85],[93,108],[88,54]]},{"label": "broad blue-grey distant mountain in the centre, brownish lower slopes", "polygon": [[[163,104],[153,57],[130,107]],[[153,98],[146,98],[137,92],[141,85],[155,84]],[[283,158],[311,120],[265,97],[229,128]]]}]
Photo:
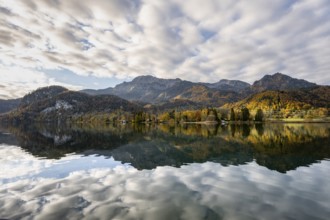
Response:
[{"label": "broad blue-grey distant mountain in the centre, brownish lower slopes", "polygon": [[[205,105],[222,105],[236,101],[240,91],[249,86],[241,81],[221,80],[217,83],[193,83],[181,79],[160,79],[153,76],[139,76],[131,82],[118,84],[114,88],[83,90],[96,94],[112,94],[130,101],[161,104],[175,99],[186,99]],[[223,90],[222,90],[223,89]]]}]

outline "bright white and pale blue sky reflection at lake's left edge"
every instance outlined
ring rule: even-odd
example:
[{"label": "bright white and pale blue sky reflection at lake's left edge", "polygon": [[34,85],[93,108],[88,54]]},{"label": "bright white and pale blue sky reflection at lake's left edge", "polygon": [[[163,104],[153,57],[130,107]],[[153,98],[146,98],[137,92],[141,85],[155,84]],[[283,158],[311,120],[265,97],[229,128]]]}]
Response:
[{"label": "bright white and pale blue sky reflection at lake's left edge", "polygon": [[82,157],[72,154],[59,160],[35,158],[19,147],[8,145],[0,145],[0,164],[0,183],[28,177],[66,177],[77,170],[121,165],[113,158],[94,155]]}]

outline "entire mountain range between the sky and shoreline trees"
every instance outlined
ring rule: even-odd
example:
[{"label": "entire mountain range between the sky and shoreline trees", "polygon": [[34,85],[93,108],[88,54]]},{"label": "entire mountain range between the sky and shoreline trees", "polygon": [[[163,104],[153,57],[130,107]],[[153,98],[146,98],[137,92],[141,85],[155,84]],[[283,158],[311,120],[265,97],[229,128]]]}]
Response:
[{"label": "entire mountain range between the sky and shoreline trees", "polygon": [[194,83],[178,78],[139,76],[131,82],[101,90],[74,92],[60,86],[41,88],[22,99],[0,100],[0,113],[16,109],[18,118],[32,118],[37,114],[44,120],[50,120],[58,115],[58,112],[77,115],[111,112],[116,109],[158,111],[223,105],[256,107],[266,102],[270,105],[269,103],[276,102],[279,96],[283,102],[286,100],[286,103],[329,108],[330,87],[281,73],[265,75],[252,85],[238,80]]}]

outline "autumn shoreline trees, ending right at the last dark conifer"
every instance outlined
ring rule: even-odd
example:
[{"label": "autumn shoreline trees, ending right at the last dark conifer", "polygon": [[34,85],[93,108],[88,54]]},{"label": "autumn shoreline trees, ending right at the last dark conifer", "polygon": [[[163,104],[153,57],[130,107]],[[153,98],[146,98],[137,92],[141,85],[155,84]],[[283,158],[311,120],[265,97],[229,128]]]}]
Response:
[{"label": "autumn shoreline trees, ending right at the last dark conifer", "polygon": [[90,113],[83,115],[75,115],[72,121],[78,123],[199,123],[210,122],[220,123],[225,121],[258,121],[265,120],[264,113],[261,109],[255,114],[251,114],[249,109],[216,109],[204,108],[200,110],[184,110],[184,111],[164,111],[161,113],[150,113],[145,111],[125,112],[117,110],[111,113]]}]

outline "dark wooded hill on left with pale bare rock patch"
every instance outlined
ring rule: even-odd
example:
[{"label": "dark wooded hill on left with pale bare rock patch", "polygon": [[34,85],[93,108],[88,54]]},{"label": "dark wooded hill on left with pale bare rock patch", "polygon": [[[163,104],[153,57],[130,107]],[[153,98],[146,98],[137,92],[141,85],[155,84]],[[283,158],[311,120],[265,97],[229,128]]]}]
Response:
[{"label": "dark wooded hill on left with pale bare rock patch", "polygon": [[141,111],[142,108],[114,95],[91,96],[59,86],[38,89],[22,98],[16,110],[2,116],[13,122],[66,121],[87,113],[110,113],[114,110]]}]

